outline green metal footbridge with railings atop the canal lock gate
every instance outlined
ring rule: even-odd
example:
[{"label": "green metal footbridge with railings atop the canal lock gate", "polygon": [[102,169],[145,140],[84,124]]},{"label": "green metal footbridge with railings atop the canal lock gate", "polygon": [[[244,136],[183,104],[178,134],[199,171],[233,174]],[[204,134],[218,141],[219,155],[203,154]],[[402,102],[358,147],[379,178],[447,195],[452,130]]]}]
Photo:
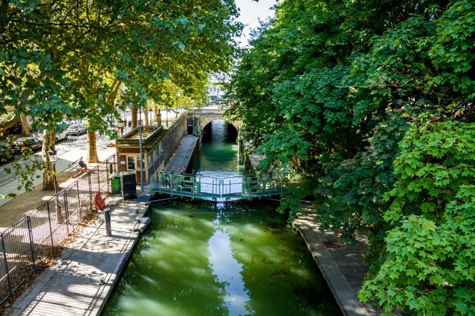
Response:
[{"label": "green metal footbridge with railings atop the canal lock gate", "polygon": [[285,190],[282,178],[272,176],[265,179],[259,176],[214,178],[161,171],[157,181],[159,186],[152,192],[191,200],[251,200],[281,195]]}]

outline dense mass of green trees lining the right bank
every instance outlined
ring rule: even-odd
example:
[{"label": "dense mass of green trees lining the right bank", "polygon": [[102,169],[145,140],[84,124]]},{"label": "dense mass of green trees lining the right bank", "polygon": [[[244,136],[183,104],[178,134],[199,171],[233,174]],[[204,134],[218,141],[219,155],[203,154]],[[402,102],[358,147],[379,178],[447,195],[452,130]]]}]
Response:
[{"label": "dense mass of green trees lining the right bank", "polygon": [[367,235],[361,298],[387,313],[473,313],[473,215],[462,228],[453,214],[475,179],[474,12],[469,0],[281,1],[226,86],[261,167],[289,172],[281,210],[312,194],[322,227]]}]

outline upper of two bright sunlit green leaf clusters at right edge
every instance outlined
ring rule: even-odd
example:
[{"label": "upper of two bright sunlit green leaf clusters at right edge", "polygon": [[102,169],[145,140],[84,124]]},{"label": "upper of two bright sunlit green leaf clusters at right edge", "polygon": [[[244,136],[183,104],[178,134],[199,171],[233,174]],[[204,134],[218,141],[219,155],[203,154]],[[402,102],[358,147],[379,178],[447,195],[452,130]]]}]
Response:
[{"label": "upper of two bright sunlit green leaf clusters at right edge", "polygon": [[394,162],[397,182],[386,193],[392,200],[388,222],[407,214],[437,220],[461,185],[475,179],[475,123],[428,119],[411,124]]}]

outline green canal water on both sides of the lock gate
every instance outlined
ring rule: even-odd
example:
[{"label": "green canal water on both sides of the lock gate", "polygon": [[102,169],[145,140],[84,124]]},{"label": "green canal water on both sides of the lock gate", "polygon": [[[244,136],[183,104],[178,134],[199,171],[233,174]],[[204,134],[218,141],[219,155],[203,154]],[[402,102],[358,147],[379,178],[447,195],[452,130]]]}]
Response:
[{"label": "green canal water on both sides of the lock gate", "polygon": [[[240,176],[238,148],[226,141],[224,122],[214,121],[212,127],[197,173]],[[286,227],[275,206],[203,202],[153,209],[152,225],[102,315],[340,312],[302,239]]]}]

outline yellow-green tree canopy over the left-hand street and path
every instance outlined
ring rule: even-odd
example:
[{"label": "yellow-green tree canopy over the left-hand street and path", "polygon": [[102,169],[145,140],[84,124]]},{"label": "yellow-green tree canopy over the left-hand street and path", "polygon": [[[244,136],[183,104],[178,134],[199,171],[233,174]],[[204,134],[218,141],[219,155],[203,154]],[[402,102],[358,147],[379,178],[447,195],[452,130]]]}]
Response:
[{"label": "yellow-green tree canopy over the left-hand street and path", "polygon": [[115,135],[105,118],[119,119],[117,105],[198,103],[208,73],[232,64],[237,16],[233,0],[0,1],[0,113],[50,131],[86,118],[89,132]]}]

